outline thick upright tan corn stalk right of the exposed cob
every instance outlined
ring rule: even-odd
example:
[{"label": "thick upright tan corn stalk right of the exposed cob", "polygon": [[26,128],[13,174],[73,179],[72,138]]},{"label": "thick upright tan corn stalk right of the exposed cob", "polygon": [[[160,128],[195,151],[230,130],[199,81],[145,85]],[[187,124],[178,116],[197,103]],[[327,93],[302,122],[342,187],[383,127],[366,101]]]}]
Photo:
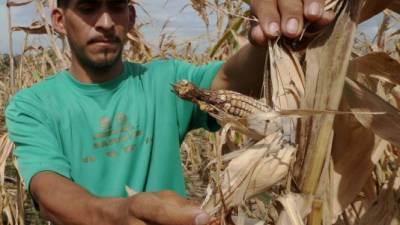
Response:
[{"label": "thick upright tan corn stalk right of the exposed cob", "polygon": [[[308,46],[302,108],[338,109],[363,2],[345,1],[337,21]],[[328,114],[303,119],[301,122],[298,162],[302,164],[298,183],[304,194],[315,197],[313,206],[323,204],[321,200],[327,204],[326,197],[331,191],[329,168],[333,122],[334,116]],[[312,208],[310,225],[321,224],[321,220],[324,224],[331,224],[329,206],[325,212],[323,208]],[[323,217],[318,216],[321,209]]]}]

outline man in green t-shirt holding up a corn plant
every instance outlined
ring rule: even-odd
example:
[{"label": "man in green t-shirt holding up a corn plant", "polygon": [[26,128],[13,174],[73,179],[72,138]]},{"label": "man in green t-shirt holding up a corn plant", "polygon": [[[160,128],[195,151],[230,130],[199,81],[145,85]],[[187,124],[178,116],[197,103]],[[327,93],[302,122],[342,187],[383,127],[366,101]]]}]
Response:
[{"label": "man in green t-shirt holding up a corn plant", "polygon": [[[265,48],[255,45],[281,34],[298,37],[304,20],[326,24],[323,2],[253,0],[254,45],[225,64],[194,66],[123,62],[136,16],[127,0],[59,0],[53,26],[68,38],[71,67],[20,91],[6,110],[20,170],[41,215],[55,224],[207,224],[209,215],[180,197],[179,146],[189,129],[212,123],[174,96],[170,84],[187,79],[258,94]],[[125,185],[139,194],[126,197]]]}]

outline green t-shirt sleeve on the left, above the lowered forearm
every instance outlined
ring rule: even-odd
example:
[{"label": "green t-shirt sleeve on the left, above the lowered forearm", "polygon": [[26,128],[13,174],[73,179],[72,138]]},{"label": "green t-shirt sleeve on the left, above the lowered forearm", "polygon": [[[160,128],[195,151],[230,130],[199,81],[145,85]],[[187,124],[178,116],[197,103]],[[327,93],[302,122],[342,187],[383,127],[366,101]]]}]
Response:
[{"label": "green t-shirt sleeve on the left, above the lowered forearm", "polygon": [[41,171],[70,178],[70,164],[62,153],[44,106],[37,97],[17,94],[5,112],[9,137],[16,146],[14,154],[28,189],[32,177]]}]

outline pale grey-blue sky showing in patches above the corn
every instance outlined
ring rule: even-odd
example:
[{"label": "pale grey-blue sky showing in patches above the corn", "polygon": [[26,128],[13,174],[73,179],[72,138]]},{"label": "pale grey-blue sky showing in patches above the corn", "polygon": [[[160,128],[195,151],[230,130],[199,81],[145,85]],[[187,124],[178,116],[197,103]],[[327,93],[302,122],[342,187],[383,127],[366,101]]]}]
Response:
[{"label": "pale grey-blue sky showing in patches above the corn", "polygon": [[[157,46],[160,32],[168,21],[164,31],[173,34],[177,42],[192,40],[195,37],[204,35],[206,27],[196,12],[188,5],[189,0],[141,0],[141,7],[137,7],[138,19],[147,25],[143,29],[145,40],[154,47]],[[8,52],[8,25],[6,0],[0,0],[0,53]],[[144,8],[142,10],[141,8]],[[13,7],[12,22],[14,26],[29,26],[33,18],[39,19],[34,3],[22,7]],[[376,33],[381,17],[363,23],[360,31],[370,37]],[[212,29],[212,28],[211,28]],[[14,52],[20,53],[23,48],[24,34],[13,33]],[[204,40],[205,38],[203,38]],[[45,44],[46,39],[39,36],[31,36],[30,43]]]}]

